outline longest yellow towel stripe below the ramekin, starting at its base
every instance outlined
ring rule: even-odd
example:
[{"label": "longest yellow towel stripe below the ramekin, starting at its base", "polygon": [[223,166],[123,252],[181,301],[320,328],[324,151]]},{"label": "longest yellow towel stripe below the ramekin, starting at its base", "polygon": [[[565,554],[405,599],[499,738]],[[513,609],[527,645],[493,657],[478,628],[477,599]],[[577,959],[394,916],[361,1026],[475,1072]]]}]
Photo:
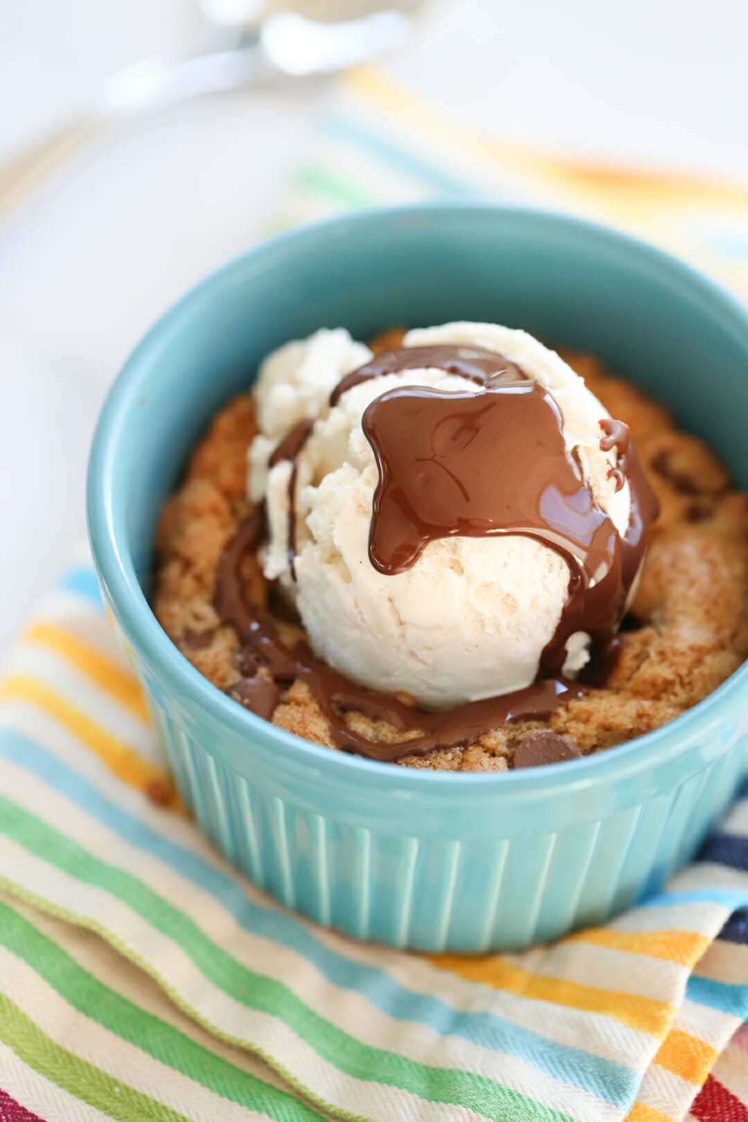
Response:
[{"label": "longest yellow towel stripe below the ramekin, starting at its base", "polygon": [[530,974],[505,958],[463,958],[460,955],[434,955],[431,962],[441,969],[450,971],[469,982],[479,982],[493,990],[505,990],[533,1001],[547,1001],[555,1005],[580,1009],[588,1013],[600,1013],[631,1029],[664,1039],[675,1010],[663,1001],[650,997],[635,997],[615,990],[598,990],[566,982],[562,978]]}]

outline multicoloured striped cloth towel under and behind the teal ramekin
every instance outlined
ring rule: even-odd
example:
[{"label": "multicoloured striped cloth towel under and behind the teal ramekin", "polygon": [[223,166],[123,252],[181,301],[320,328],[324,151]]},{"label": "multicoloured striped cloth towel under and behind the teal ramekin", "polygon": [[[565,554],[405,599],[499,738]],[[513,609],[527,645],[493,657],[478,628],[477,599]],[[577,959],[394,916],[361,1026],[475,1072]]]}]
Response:
[{"label": "multicoloured striped cloth towel under and behind the teal ramekin", "polygon": [[[378,72],[341,92],[281,218],[434,194],[592,213],[748,296],[748,193],[480,145]],[[299,919],[167,791],[83,557],[0,686],[3,1122],[748,1122],[748,789],[645,907],[483,958]]]}]

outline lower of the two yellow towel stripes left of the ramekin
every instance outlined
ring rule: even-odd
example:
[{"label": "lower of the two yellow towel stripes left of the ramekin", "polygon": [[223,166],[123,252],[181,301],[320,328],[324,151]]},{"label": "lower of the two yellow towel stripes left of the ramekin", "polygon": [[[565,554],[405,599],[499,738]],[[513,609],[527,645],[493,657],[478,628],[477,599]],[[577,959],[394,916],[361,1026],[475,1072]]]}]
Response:
[{"label": "lower of the two yellow towel stripes left of the ramekin", "polygon": [[94,752],[103,763],[130,787],[148,794],[153,801],[173,810],[182,810],[168,773],[139,756],[123,741],[70,705],[48,686],[26,674],[9,674],[0,684],[0,700],[27,701],[64,725],[73,736]]}]

